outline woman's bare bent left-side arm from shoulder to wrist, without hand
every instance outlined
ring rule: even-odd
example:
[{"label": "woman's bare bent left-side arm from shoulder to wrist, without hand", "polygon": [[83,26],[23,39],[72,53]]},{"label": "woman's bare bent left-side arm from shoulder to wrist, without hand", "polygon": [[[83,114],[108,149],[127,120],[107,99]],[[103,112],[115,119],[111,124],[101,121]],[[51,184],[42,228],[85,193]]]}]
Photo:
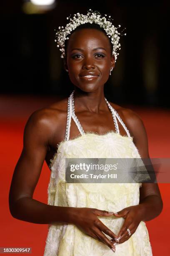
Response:
[{"label": "woman's bare bent left-side arm from shoulder to wrist, without hand", "polygon": [[14,218],[39,224],[69,222],[72,207],[47,205],[34,200],[33,193],[40,177],[52,131],[47,113],[34,112],[24,129],[23,151],[16,164],[9,193],[10,213]]}]

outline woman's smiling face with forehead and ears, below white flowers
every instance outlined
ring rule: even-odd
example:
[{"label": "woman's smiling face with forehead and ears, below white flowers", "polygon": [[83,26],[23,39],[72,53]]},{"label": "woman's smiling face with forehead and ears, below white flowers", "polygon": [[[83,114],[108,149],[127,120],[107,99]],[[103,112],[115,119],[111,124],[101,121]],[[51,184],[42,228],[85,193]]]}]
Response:
[{"label": "woman's smiling face with forehead and ears, below white flowers", "polygon": [[103,89],[115,66],[109,38],[94,28],[77,30],[69,38],[65,67],[71,82],[84,92]]}]

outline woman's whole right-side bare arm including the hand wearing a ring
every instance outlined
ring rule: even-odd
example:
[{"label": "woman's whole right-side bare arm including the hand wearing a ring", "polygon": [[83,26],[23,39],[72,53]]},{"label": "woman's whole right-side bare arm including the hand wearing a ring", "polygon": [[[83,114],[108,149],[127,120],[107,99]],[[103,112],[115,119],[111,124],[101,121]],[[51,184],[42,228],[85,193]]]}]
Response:
[{"label": "woman's whole right-side bare arm including the hand wearing a ring", "polygon": [[[133,136],[133,142],[138,148],[142,159],[148,158],[148,138],[140,117],[129,109],[124,109],[124,119],[130,134]],[[163,202],[160,195],[158,184],[143,183],[140,188],[140,201],[138,205],[126,207],[121,211],[114,213],[116,217],[125,218],[118,237],[118,243],[127,241],[138,228],[141,221],[152,220],[157,217],[163,209]],[[128,232],[130,230],[130,234]]]}]

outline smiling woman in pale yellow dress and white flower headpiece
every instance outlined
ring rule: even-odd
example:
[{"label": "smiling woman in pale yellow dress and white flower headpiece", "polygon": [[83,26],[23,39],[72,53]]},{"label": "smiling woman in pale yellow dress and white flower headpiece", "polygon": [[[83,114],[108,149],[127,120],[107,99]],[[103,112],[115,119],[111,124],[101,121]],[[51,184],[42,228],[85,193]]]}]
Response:
[{"label": "smiling woman in pale yellow dress and white flower headpiece", "polygon": [[[10,188],[14,218],[49,224],[44,256],[152,255],[145,221],[163,208],[157,184],[65,182],[65,158],[149,158],[143,121],[105,99],[120,44],[99,16],[77,13],[69,38],[63,27],[57,33],[75,90],[30,116]],[[48,205],[32,199],[44,160],[51,169]]]}]

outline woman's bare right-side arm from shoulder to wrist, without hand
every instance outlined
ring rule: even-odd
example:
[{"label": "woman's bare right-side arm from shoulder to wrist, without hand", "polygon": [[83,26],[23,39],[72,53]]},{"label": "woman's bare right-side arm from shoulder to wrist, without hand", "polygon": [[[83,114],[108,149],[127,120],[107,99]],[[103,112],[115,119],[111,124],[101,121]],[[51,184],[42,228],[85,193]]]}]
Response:
[{"label": "woman's bare right-side arm from shoulder to wrist, without hand", "polygon": [[[134,137],[141,158],[150,158],[148,152],[148,137],[141,118],[132,110],[128,111],[127,124]],[[126,114],[127,115],[127,114]],[[157,183],[143,183],[140,187],[140,206],[143,211],[143,221],[157,217],[163,209],[163,201]]]}]

